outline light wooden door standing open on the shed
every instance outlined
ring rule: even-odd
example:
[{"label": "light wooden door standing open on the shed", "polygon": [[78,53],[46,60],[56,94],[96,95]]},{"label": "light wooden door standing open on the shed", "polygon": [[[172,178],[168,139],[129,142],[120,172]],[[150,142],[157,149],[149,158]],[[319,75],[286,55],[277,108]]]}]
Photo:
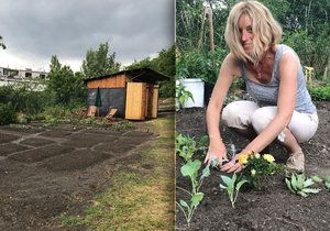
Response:
[{"label": "light wooden door standing open on the shed", "polygon": [[146,113],[146,84],[128,82],[125,119],[144,120]]}]

